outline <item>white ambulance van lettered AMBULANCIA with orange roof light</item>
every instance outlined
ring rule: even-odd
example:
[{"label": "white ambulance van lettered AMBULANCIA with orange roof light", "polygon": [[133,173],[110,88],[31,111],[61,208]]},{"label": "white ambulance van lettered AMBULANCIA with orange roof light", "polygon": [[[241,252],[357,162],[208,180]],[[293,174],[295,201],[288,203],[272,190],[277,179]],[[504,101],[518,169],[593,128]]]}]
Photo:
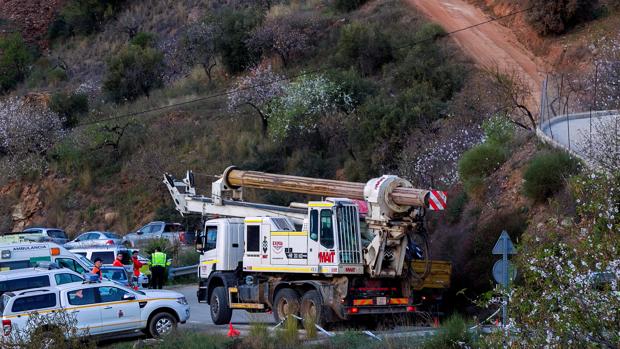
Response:
[{"label": "white ambulance van lettered AMBULANCIA with orange roof light", "polygon": [[32,268],[39,262],[54,262],[78,274],[90,272],[78,256],[53,242],[0,245],[0,271]]}]

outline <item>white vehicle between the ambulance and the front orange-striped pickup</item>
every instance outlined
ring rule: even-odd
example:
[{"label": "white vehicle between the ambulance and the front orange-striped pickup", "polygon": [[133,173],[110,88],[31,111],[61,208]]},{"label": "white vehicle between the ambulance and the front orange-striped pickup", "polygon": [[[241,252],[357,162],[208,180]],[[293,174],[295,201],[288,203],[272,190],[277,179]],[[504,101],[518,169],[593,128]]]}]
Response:
[{"label": "white vehicle between the ambulance and the front orange-striped pickup", "polygon": [[58,286],[70,282],[81,283],[84,278],[74,271],[58,267],[55,263],[48,264],[47,267],[3,271],[0,272],[0,296],[5,292]]}]

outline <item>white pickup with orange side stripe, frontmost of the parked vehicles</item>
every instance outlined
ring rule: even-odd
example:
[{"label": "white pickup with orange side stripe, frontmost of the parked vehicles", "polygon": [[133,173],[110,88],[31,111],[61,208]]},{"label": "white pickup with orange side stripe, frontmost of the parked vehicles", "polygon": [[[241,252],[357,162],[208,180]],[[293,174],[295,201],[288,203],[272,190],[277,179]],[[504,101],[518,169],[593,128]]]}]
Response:
[{"label": "white pickup with orange side stripe, frontmost of the parked vehicles", "polygon": [[[187,300],[178,292],[135,291],[110,281],[65,284],[2,295],[3,340],[14,331],[23,331],[31,314],[44,316],[59,310],[75,316],[80,336],[144,331],[160,337],[189,319]],[[55,330],[53,323],[45,328]]]}]

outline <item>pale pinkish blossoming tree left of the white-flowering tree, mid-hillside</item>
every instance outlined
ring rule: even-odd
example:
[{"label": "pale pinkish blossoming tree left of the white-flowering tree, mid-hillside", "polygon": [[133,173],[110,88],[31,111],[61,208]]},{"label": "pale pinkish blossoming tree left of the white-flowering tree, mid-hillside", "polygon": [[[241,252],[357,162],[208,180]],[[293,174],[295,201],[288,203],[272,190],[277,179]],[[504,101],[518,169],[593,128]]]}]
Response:
[{"label": "pale pinkish blossoming tree left of the white-flowering tree, mid-hillside", "polygon": [[251,107],[261,119],[263,133],[267,133],[269,122],[265,108],[271,100],[284,93],[285,86],[284,77],[274,73],[271,65],[254,67],[248,75],[237,79],[230,90],[228,108]]}]

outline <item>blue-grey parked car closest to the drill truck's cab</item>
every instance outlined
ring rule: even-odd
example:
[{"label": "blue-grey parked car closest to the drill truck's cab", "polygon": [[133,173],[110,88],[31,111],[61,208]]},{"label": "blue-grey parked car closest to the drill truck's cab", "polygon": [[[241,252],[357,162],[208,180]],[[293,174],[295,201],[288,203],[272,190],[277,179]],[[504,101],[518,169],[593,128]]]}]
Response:
[{"label": "blue-grey parked car closest to the drill truck's cab", "polygon": [[146,245],[154,239],[167,239],[172,244],[193,244],[190,234],[184,231],[180,223],[151,222],[134,233],[123,237],[123,244],[130,247]]}]

